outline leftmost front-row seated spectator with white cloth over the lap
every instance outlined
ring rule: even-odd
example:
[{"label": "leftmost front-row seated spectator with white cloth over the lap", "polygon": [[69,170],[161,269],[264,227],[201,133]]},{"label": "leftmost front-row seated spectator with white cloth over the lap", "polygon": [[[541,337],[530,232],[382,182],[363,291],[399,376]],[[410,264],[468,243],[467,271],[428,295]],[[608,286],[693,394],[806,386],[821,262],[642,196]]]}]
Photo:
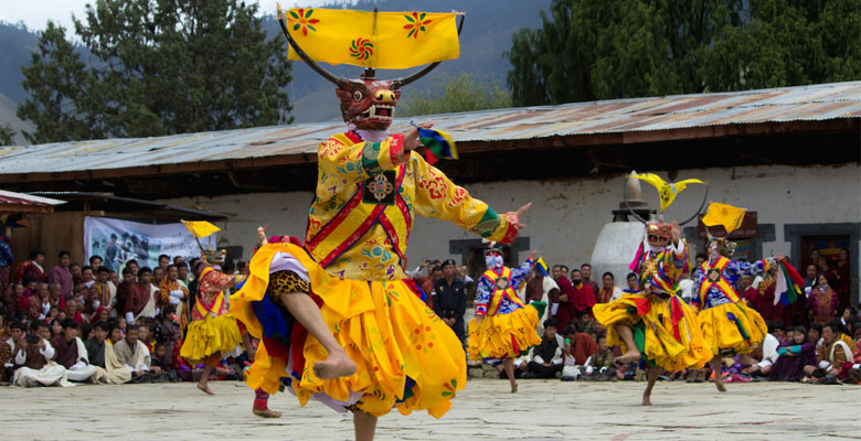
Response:
[{"label": "leftmost front-row seated spectator with white cloth over the lap", "polygon": [[21,338],[12,351],[15,361],[14,385],[72,386],[66,379],[66,369],[53,362],[54,347],[47,341],[49,337],[44,322],[31,323],[30,334]]}]

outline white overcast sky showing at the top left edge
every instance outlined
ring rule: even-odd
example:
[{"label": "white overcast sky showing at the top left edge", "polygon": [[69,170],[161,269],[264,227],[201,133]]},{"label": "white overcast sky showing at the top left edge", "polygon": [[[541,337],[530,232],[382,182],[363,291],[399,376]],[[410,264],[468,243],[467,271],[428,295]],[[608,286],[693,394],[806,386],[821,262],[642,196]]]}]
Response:
[{"label": "white overcast sky showing at the top left edge", "polygon": [[[246,0],[251,3],[254,0]],[[26,28],[33,31],[42,30],[49,19],[60,22],[66,29],[72,29],[72,14],[78,20],[84,18],[84,7],[93,3],[93,0],[0,0],[0,20],[18,23],[23,21]],[[327,0],[283,0],[281,6],[316,7]],[[259,11],[275,13],[276,0],[257,0]]]}]

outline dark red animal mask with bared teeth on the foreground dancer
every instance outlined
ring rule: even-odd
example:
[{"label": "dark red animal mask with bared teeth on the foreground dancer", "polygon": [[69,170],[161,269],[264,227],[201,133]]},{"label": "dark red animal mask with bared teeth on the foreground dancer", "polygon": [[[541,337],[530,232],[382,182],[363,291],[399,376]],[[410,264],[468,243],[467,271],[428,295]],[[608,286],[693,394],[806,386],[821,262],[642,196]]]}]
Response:
[{"label": "dark red animal mask with bared teeth on the foreground dancer", "polygon": [[401,97],[401,90],[392,89],[392,82],[378,78],[350,79],[334,92],[344,122],[365,130],[387,129]]}]

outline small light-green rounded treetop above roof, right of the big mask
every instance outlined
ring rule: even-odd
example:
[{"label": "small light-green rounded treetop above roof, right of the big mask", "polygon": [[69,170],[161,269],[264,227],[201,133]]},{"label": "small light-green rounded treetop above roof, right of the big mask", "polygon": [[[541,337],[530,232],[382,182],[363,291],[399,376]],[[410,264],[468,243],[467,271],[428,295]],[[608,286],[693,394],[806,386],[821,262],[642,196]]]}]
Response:
[{"label": "small light-green rounded treetop above roof, right of the big mask", "polygon": [[511,97],[498,82],[487,85],[469,73],[434,79],[434,86],[408,96],[397,106],[402,116],[450,114],[511,107]]}]

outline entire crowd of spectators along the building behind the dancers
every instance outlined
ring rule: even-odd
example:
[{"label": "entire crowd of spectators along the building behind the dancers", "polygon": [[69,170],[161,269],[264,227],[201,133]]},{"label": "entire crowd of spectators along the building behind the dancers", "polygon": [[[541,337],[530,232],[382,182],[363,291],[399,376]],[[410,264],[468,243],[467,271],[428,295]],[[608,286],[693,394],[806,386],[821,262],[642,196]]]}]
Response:
[{"label": "entire crowd of spectators along the building behind the dancers", "polygon": [[[6,246],[4,246],[6,245]],[[697,256],[692,265],[701,265]],[[860,383],[861,316],[849,305],[848,252],[837,269],[814,252],[805,267],[804,294],[791,304],[775,301],[776,272],[744,276],[736,287],[743,301],[768,325],[766,340],[753,353],[724,358],[724,381],[793,380]],[[93,256],[88,265],[72,261],[66,251],[45,270],[45,254],[12,265],[8,245],[0,240],[0,381],[20,386],[70,381],[141,383],[198,380],[200,366],[179,356],[183,331],[196,294],[200,259],[160,256],[155,268],[129,260],[120,275]],[[4,265],[3,265],[4,263]],[[240,262],[224,271],[247,271]],[[685,271],[679,291],[685,302],[697,287]],[[466,266],[451,259],[429,259],[407,271],[426,294],[426,303],[466,344],[467,308],[475,299],[476,280]],[[593,279],[597,279],[593,280]],[[562,380],[642,380],[645,364],[620,364],[618,347],[608,347],[606,330],[592,308],[638,292],[638,278],[626,275],[593,277],[592,266],[534,270],[521,286],[525,303],[544,302],[540,345],[517,361],[521,378]],[[253,357],[253,347],[251,348]],[[251,363],[248,353],[227,358],[210,379],[241,378]],[[502,374],[500,373],[500,376]],[[666,380],[705,381],[710,368],[665,372]]]}]

